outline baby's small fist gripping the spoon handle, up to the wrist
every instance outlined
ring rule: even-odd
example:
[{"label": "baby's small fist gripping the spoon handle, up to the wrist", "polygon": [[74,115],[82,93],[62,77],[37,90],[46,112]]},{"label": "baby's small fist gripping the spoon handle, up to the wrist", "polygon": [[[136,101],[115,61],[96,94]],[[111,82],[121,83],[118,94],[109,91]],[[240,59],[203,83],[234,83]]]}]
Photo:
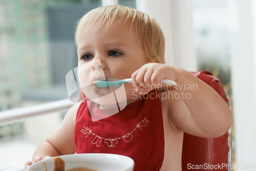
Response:
[{"label": "baby's small fist gripping the spoon handle, up to the wrist", "polygon": [[162,88],[163,79],[176,81],[176,70],[163,63],[146,63],[132,74],[136,92],[147,94],[153,89]]}]

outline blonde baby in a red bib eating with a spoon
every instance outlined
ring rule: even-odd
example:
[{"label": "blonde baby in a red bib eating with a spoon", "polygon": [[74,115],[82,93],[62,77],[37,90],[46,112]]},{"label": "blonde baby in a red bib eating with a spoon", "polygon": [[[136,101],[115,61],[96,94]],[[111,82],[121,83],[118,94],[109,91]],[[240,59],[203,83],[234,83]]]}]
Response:
[{"label": "blonde baby in a red bib eating with a spoon", "polygon": [[[133,158],[134,170],[178,171],[184,132],[214,138],[229,130],[231,111],[218,93],[188,71],[164,64],[164,36],[151,16],[121,5],[99,7],[80,19],[75,39],[79,81],[91,86],[95,97],[68,111],[59,129],[38,145],[33,163],[74,153],[113,153]],[[121,86],[124,95],[116,95],[121,100],[102,100],[109,89],[92,84],[110,78],[132,78]],[[176,88],[163,79],[175,81]]]}]

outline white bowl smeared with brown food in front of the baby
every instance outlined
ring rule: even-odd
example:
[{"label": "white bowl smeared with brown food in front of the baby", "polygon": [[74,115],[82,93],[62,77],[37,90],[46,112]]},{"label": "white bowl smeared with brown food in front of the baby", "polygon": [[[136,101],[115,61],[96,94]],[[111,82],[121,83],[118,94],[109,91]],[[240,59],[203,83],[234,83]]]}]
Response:
[{"label": "white bowl smeared with brown food in front of the baby", "polygon": [[[134,161],[130,157],[103,154],[103,153],[88,153],[59,156],[65,161],[65,170],[74,167],[87,167],[98,171],[132,171]],[[43,160],[32,164],[26,171],[53,171],[54,158]]]}]

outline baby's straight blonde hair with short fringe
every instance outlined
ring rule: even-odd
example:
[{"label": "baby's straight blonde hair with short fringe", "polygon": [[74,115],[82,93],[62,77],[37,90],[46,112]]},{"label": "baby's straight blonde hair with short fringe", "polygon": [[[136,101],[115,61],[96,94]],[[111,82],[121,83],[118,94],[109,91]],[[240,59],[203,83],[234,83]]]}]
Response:
[{"label": "baby's straight blonde hair with short fringe", "polygon": [[142,42],[143,51],[150,61],[164,63],[165,40],[157,21],[148,14],[121,5],[98,7],[84,15],[77,24],[76,45],[79,33],[86,25],[97,24],[100,29],[106,24],[110,28],[117,20],[131,24],[131,29],[135,29]]}]

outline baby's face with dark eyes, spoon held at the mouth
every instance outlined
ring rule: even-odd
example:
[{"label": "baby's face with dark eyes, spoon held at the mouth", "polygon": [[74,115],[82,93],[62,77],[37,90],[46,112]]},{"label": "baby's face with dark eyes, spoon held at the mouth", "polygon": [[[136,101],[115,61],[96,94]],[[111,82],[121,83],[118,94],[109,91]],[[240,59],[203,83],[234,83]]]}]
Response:
[{"label": "baby's face with dark eyes, spoon held at the mouth", "polygon": [[[129,24],[115,22],[107,31],[106,26],[98,31],[97,29],[95,25],[88,25],[79,33],[77,39],[79,81],[81,87],[91,89],[94,99],[95,96],[102,97],[109,93],[108,88],[94,87],[94,80],[131,78],[134,71],[149,62],[140,40],[135,31],[130,30]],[[90,96],[90,90],[86,91],[83,89],[84,94]],[[127,103],[134,101],[134,97],[139,97],[135,96],[137,93],[131,83],[125,84],[125,92]],[[97,100],[96,103],[104,103]]]}]

